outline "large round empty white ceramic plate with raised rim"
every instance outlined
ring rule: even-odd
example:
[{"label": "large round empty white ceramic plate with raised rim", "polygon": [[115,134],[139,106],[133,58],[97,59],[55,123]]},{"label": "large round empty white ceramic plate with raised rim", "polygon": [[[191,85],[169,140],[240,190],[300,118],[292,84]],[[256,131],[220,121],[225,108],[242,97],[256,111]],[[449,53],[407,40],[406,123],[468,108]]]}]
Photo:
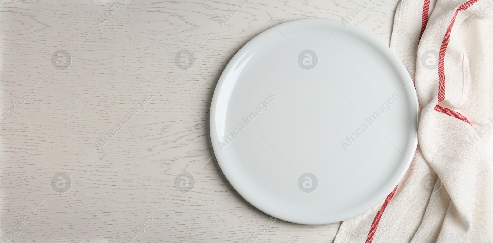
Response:
[{"label": "large round empty white ceramic plate with raised rim", "polygon": [[294,223],[365,212],[404,176],[418,100],[380,40],[330,19],[287,22],[231,59],[211,104],[221,170],[249,203]]}]

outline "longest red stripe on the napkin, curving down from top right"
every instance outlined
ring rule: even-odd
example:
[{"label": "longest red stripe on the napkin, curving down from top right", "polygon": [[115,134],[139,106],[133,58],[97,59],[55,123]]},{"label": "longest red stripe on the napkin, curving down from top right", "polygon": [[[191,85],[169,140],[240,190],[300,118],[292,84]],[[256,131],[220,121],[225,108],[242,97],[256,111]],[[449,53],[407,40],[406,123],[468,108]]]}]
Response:
[{"label": "longest red stripe on the napkin, curving down from top right", "polygon": [[472,4],[477,2],[478,0],[468,0],[464,4],[460,5],[456,10],[454,17],[450,21],[449,27],[445,32],[445,36],[443,37],[442,45],[440,46],[440,52],[438,53],[438,102],[445,99],[445,68],[444,68],[444,59],[445,59],[445,51],[447,50],[447,46],[450,41],[450,32],[452,31],[452,27],[456,22],[456,17],[458,11],[464,10],[470,7]]}]

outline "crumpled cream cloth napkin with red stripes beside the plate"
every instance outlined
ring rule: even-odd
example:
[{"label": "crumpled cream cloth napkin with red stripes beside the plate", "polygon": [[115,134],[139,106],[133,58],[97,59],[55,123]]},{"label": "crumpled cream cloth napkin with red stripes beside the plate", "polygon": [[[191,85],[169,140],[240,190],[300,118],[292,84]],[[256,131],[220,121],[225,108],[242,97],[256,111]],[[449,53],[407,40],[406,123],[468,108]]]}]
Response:
[{"label": "crumpled cream cloth napkin with red stripes beside the plate", "polygon": [[418,149],[396,189],[345,220],[335,243],[493,243],[492,15],[493,0],[399,2],[390,47],[415,80]]}]

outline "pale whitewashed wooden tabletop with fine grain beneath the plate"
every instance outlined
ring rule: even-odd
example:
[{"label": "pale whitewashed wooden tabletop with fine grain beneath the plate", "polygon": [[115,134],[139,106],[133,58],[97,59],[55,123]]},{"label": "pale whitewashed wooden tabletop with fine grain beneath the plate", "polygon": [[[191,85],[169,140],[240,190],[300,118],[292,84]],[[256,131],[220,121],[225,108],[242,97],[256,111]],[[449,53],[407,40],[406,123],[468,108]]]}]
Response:
[{"label": "pale whitewashed wooden tabletop with fine grain beneath the plate", "polygon": [[[123,2],[123,0],[120,0]],[[1,237],[11,242],[120,242],[147,216],[133,242],[242,242],[269,215],[247,203],[213,157],[209,111],[228,61],[272,25],[340,20],[361,1],[250,0],[221,28],[237,0],[127,0],[98,28],[108,1],[1,1]],[[375,0],[352,24],[389,43],[398,0]],[[52,64],[57,50],[70,67]],[[192,68],[175,64],[193,53]],[[95,142],[150,93],[152,98],[99,151]],[[206,163],[207,162],[207,163]],[[196,183],[176,189],[179,173]],[[52,186],[70,176],[69,191]],[[340,223],[277,220],[258,242],[333,242]]]}]

